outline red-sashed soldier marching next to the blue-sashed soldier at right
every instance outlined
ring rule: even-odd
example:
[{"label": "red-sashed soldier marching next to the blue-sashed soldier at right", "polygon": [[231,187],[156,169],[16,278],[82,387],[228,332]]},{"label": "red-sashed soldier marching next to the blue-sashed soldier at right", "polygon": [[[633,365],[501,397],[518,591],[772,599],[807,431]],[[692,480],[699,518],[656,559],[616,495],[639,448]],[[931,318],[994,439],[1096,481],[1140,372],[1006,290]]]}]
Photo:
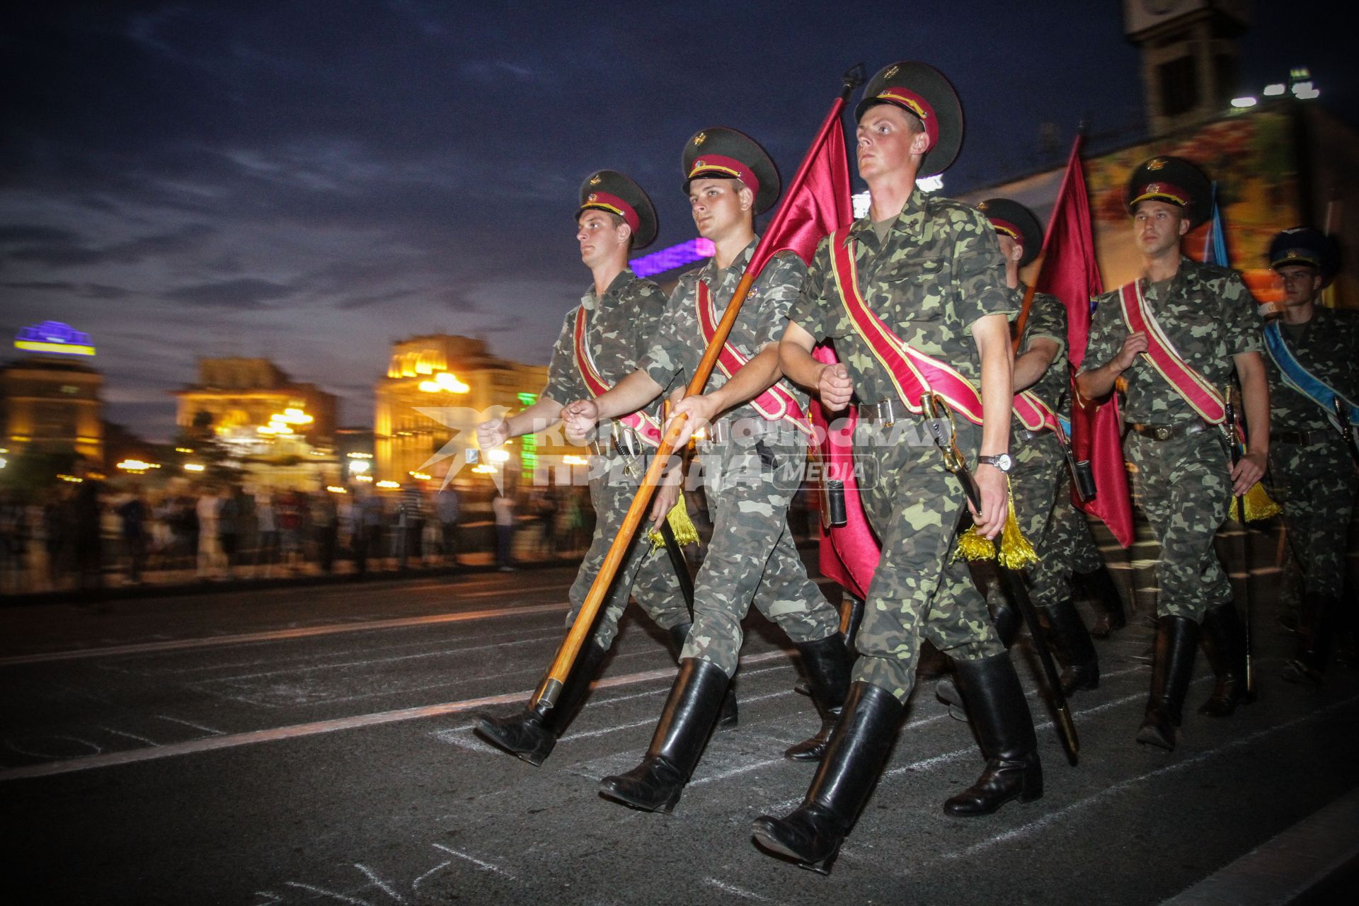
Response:
[{"label": "red-sashed soldier marching next to the blue-sashed soldier at right", "polygon": [[[1143,277],[1098,297],[1082,395],[1098,398],[1127,380],[1124,455],[1161,543],[1151,695],[1137,742],[1174,748],[1200,623],[1216,674],[1199,713],[1224,717],[1250,701],[1245,628],[1212,541],[1227,504],[1264,474],[1269,390],[1260,355],[1260,314],[1241,276],[1180,253],[1208,216],[1211,189],[1178,158],[1152,158],[1128,179],[1125,201]],[[1223,388],[1235,368],[1249,451],[1235,467],[1223,443]]]}]

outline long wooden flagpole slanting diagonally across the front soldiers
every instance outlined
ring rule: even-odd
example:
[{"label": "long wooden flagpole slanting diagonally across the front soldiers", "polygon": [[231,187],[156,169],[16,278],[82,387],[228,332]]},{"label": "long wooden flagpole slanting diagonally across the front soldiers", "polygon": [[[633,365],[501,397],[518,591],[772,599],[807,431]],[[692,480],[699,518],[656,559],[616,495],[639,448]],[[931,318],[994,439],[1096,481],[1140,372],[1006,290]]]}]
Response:
[{"label": "long wooden flagpole slanting diagonally across the front soldiers", "polygon": [[[844,88],[836,102],[830,106],[830,113],[826,114],[822,122],[821,130],[818,130],[817,137],[825,134],[830,128],[832,122],[839,122],[840,111],[844,109],[845,102],[849,101],[849,95],[862,81],[862,76],[858,75],[858,67],[855,71],[845,73],[843,83]],[[798,167],[798,175],[792,178],[788,183],[788,190],[786,198],[795,197],[802,187],[802,183],[807,179],[807,173],[811,167],[813,160],[817,156],[818,144],[814,143],[807,151],[807,155],[802,159],[802,164]],[[752,255],[752,265],[756,262],[762,262],[768,259],[772,251],[765,246],[772,238],[777,235],[777,224],[780,217],[784,216],[787,208],[780,208],[779,215],[775,216],[772,224],[769,224],[768,231],[756,246],[756,251]],[[727,310],[722,314],[722,321],[718,322],[718,329],[713,331],[712,341],[703,353],[703,359],[699,361],[699,367],[694,369],[693,380],[689,382],[685,390],[686,397],[694,397],[701,394],[704,387],[708,386],[708,378],[712,375],[712,369],[718,363],[718,355],[722,352],[722,346],[727,342],[727,337],[731,334],[731,327],[737,322],[737,315],[741,314],[741,306],[745,303],[746,296],[750,293],[750,287],[754,285],[756,277],[760,276],[760,268],[747,266],[746,272],[741,274],[741,281],[737,284],[737,291],[731,296],[731,302],[727,303]],[[655,455],[651,459],[651,465],[647,466],[647,474],[641,478],[641,486],[637,489],[636,496],[632,499],[632,504],[628,507],[626,515],[622,518],[622,524],[618,527],[618,534],[614,535],[613,543],[609,545],[609,553],[605,554],[603,562],[599,566],[599,573],[595,576],[594,584],[590,585],[590,592],[586,595],[584,603],[580,606],[580,613],[576,614],[576,621],[571,623],[571,630],[567,637],[561,641],[561,647],[557,648],[557,656],[552,662],[552,667],[548,670],[548,675],[542,678],[538,689],[533,693],[533,700],[529,702],[531,710],[540,714],[546,713],[557,702],[557,695],[561,694],[561,686],[567,682],[567,676],[571,674],[571,667],[576,662],[576,656],[580,653],[582,645],[584,645],[586,636],[594,626],[595,617],[599,613],[599,607],[603,604],[605,596],[609,594],[609,588],[613,587],[613,580],[618,575],[618,568],[622,565],[622,558],[628,553],[628,546],[632,543],[633,535],[637,534],[637,527],[641,524],[643,515],[646,513],[647,505],[651,503],[651,497],[656,490],[662,473],[665,473],[666,466],[670,462],[671,454],[675,451],[675,441],[680,439],[680,433],[684,431],[685,424],[689,421],[689,413],[680,413],[677,417],[666,422],[665,435],[660,439],[660,447],[656,448]]]}]

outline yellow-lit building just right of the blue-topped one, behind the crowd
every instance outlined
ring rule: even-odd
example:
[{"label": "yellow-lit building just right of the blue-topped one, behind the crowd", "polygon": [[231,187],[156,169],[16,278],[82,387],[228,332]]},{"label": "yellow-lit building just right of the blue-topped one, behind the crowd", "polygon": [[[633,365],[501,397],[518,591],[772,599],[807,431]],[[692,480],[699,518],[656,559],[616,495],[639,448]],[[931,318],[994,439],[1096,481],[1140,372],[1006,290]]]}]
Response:
[{"label": "yellow-lit building just right of the blue-topped one, behind the crowd", "polygon": [[310,444],[329,444],[334,433],[334,395],[292,380],[268,359],[200,359],[198,383],[174,395],[175,424],[190,429],[207,413],[213,433],[224,440],[298,435]]}]

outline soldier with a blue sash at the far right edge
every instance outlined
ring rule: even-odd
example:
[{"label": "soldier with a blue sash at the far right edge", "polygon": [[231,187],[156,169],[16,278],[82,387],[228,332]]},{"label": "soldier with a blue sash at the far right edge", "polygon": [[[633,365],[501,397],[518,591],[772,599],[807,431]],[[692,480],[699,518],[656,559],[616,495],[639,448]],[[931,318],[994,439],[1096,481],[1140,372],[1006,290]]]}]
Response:
[{"label": "soldier with a blue sash at the far right edge", "polygon": [[1269,266],[1284,293],[1283,314],[1264,331],[1269,488],[1283,507],[1303,583],[1298,651],[1283,678],[1320,683],[1344,618],[1345,551],[1359,489],[1354,458],[1359,319],[1320,304],[1335,276],[1336,254],[1317,230],[1294,227],[1275,236]]}]

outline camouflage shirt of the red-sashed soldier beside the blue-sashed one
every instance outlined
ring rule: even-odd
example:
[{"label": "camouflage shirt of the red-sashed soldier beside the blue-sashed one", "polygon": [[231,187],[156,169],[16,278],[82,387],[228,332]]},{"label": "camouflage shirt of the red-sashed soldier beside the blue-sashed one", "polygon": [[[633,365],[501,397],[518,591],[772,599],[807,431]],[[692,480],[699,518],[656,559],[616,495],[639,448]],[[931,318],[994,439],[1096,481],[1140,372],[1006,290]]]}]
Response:
[{"label": "camouflage shirt of the red-sashed soldier beside the blue-sashed one", "polygon": [[[1146,277],[1140,280],[1147,308],[1176,352],[1219,391],[1233,379],[1233,356],[1264,349],[1258,306],[1235,270],[1181,258],[1165,299],[1158,296]],[[1091,371],[1113,360],[1127,336],[1118,291],[1098,296],[1082,369]],[[1197,418],[1184,397],[1144,357],[1137,356],[1123,376],[1128,382],[1128,398],[1123,407],[1128,421]]]}]

